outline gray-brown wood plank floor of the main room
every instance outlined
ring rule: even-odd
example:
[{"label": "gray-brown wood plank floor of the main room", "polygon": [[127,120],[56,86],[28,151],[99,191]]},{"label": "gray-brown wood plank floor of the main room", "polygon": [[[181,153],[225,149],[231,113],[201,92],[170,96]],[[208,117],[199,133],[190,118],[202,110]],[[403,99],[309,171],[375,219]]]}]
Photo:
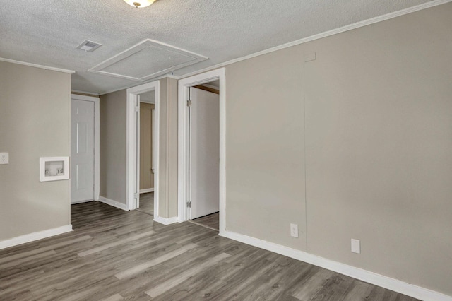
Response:
[{"label": "gray-brown wood plank floor of the main room", "polygon": [[194,223],[71,207],[73,232],[0,250],[0,300],[414,300]]}]

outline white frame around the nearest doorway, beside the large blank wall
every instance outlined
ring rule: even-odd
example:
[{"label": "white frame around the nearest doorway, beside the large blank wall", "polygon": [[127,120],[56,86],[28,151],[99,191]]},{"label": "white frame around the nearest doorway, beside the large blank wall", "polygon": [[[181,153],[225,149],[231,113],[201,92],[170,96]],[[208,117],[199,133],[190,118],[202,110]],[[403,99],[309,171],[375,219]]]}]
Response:
[{"label": "white frame around the nearest doorway, beside the large blank wall", "polygon": [[187,107],[187,100],[189,100],[189,88],[194,85],[201,85],[209,83],[210,81],[220,81],[220,186],[219,186],[219,201],[220,201],[220,235],[224,235],[226,231],[226,154],[225,154],[225,68],[216,69],[206,73],[201,73],[196,76],[190,76],[179,80],[179,95],[178,95],[178,163],[177,163],[177,218],[179,222],[189,220],[189,211],[186,206],[189,200],[189,109]]}]

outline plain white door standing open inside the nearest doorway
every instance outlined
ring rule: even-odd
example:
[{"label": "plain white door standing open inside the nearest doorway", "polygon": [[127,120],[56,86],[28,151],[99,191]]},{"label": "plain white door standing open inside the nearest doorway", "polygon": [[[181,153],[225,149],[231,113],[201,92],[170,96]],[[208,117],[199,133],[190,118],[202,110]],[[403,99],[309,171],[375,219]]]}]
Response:
[{"label": "plain white door standing open inside the nearest doorway", "polygon": [[220,99],[190,88],[189,219],[218,212],[220,169]]}]

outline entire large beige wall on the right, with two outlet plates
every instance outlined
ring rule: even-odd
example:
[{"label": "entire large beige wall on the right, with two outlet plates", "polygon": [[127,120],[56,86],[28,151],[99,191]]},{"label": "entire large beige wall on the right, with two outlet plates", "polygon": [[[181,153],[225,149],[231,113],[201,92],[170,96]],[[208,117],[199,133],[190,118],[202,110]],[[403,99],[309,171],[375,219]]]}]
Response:
[{"label": "entire large beige wall on the right, with two outlet plates", "polygon": [[227,66],[227,230],[452,295],[451,16]]}]

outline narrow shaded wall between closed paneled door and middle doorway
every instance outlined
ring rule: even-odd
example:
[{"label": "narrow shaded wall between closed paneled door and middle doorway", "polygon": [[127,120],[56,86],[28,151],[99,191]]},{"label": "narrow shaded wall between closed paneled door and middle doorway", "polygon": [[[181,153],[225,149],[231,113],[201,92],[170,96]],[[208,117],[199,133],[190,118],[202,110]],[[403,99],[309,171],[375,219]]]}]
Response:
[{"label": "narrow shaded wall between closed paneled door and middle doorway", "polygon": [[100,96],[100,196],[126,203],[126,90]]}]

